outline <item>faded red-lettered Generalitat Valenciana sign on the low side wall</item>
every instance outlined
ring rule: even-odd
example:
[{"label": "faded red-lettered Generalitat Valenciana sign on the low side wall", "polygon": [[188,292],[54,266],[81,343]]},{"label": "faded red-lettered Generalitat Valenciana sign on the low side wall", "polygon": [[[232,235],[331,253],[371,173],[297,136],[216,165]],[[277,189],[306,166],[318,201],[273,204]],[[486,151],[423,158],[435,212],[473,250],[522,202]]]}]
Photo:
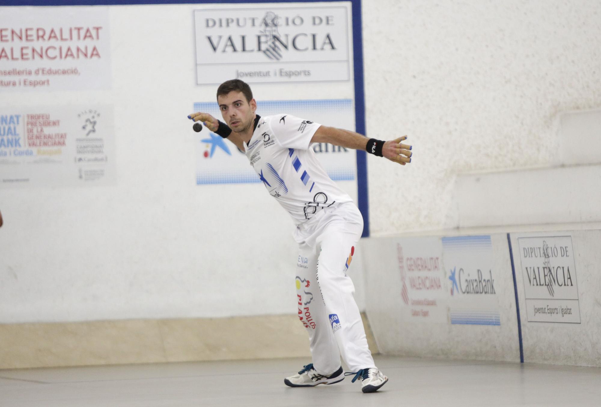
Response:
[{"label": "faded red-lettered Generalitat Valenciana sign on the low side wall", "polygon": [[405,312],[415,321],[446,324],[448,294],[440,238],[403,238],[395,243]]}]

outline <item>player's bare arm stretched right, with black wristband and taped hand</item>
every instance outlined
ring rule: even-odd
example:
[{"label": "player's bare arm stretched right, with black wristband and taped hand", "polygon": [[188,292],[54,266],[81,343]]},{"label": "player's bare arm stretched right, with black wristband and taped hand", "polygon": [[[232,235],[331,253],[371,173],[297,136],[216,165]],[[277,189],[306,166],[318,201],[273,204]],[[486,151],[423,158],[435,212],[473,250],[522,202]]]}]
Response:
[{"label": "player's bare arm stretched right, with black wristband and taped hand", "polygon": [[398,137],[394,140],[382,141],[368,139],[355,131],[342,130],[341,128],[320,126],[311,139],[312,143],[331,143],[344,148],[367,151],[379,157],[388,158],[395,163],[405,165],[411,162],[410,151],[413,146],[403,144],[407,136]]}]

